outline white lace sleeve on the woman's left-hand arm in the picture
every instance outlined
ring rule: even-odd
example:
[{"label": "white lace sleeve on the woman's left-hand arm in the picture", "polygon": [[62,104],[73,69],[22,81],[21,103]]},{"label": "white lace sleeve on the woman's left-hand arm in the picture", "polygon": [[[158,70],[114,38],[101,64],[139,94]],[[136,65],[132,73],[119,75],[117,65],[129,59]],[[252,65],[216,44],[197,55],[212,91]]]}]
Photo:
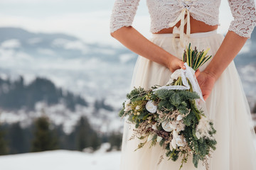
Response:
[{"label": "white lace sleeve on the woman's left-hand arm in the picture", "polygon": [[116,0],[110,18],[110,33],[122,28],[132,26],[139,0]]}]

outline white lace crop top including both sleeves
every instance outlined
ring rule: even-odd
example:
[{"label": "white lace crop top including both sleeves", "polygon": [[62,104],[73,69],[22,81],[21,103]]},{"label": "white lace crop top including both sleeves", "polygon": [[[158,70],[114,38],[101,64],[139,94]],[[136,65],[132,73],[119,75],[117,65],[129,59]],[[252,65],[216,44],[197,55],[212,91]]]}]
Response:
[{"label": "white lace crop top including both sleeves", "polygon": [[[181,20],[184,9],[198,21],[210,26],[219,24],[220,0],[146,0],[146,3],[151,16],[151,33],[174,26]],[[228,0],[228,3],[234,18],[228,30],[250,38],[256,25],[255,1]],[[139,0],[115,0],[110,19],[110,32],[113,33],[123,26],[132,26],[138,5]]]}]

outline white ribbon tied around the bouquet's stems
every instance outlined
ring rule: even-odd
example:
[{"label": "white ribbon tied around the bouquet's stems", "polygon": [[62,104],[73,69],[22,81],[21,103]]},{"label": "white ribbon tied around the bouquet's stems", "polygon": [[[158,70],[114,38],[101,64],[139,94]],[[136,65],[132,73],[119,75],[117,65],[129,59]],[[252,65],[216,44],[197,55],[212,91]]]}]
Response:
[{"label": "white ribbon tied around the bouquet's stems", "polygon": [[190,86],[186,79],[186,78],[188,78],[188,80],[191,82],[192,90],[195,91],[200,96],[200,98],[203,102],[205,102],[203,100],[202,91],[201,91],[198,81],[196,79],[195,70],[193,70],[191,67],[189,67],[187,63],[185,63],[184,65],[185,65],[186,69],[176,69],[176,71],[173,74],[171,74],[171,78],[170,78],[169,82],[167,83],[167,85],[171,84],[174,81],[174,79],[178,79],[178,77],[181,77],[182,84],[184,86],[161,86],[158,89],[153,89],[153,91],[158,91],[161,89],[189,90]]}]

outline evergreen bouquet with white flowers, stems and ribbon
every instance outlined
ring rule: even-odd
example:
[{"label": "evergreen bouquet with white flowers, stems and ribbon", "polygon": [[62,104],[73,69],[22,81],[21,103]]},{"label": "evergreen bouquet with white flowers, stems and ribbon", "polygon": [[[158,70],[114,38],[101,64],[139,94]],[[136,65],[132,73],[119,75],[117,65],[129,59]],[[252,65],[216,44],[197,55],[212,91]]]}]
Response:
[{"label": "evergreen bouquet with white flowers, stems and ribbon", "polygon": [[[178,69],[171,74],[166,86],[156,85],[149,90],[134,88],[127,94],[127,101],[119,112],[120,117],[128,116],[129,123],[135,125],[129,140],[135,137],[142,140],[137,149],[144,147],[146,142],[150,142],[150,147],[159,144],[169,159],[176,161],[178,157],[182,158],[180,169],[189,155],[193,155],[196,168],[201,160],[208,169],[210,152],[217,144],[213,137],[216,132],[213,122],[206,118],[198,104],[203,101],[203,96],[194,74],[210,59],[208,50],[198,52],[189,44],[183,53],[185,70]],[[159,164],[162,159],[163,155]]]}]

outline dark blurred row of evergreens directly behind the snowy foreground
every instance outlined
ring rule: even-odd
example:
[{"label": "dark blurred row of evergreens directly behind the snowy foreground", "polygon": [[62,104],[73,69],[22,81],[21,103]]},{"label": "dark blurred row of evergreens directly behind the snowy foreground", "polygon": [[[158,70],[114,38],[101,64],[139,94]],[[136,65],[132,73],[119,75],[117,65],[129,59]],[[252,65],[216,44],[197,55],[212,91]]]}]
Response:
[{"label": "dark blurred row of evergreens directly behind the snowy foreground", "polygon": [[0,155],[41,152],[55,149],[94,152],[104,142],[110,143],[108,151],[120,150],[122,134],[102,134],[93,130],[86,117],[81,117],[69,134],[61,125],[50,123],[46,116],[22,128],[20,123],[0,125]]}]

